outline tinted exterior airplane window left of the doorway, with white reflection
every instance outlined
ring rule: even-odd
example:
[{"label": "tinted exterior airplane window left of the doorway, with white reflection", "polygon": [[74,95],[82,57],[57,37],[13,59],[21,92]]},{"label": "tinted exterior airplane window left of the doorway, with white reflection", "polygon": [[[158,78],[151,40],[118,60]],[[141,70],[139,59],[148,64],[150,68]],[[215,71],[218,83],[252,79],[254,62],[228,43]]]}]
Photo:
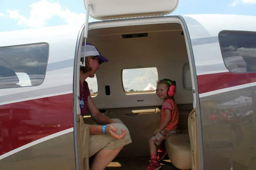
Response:
[{"label": "tinted exterior airplane window left of the doorway, with white reflection", "polygon": [[46,43],[0,47],[0,89],[42,84],[48,56]]}]

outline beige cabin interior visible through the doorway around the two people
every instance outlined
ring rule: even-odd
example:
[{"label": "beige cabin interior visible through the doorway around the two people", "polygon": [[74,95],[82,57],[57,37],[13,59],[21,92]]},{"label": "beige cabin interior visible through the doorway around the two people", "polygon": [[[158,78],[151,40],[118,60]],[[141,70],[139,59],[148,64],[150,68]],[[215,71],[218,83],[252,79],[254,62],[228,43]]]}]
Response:
[{"label": "beige cabin interior visible through the doorway around the two people", "polygon": [[[101,64],[96,73],[98,92],[93,95],[94,103],[102,114],[123,121],[132,138],[132,143],[125,146],[106,169],[147,167],[150,156],[148,140],[159,126],[163,101],[154,89],[133,91],[126,87],[126,83],[129,81],[139,86],[155,81],[150,83],[156,86],[156,80],[163,78],[175,81],[177,86],[174,98],[179,108],[180,134],[165,140],[168,156],[161,162],[162,169],[198,166],[194,160],[198,161],[198,157],[191,158],[190,142],[195,139],[192,139],[192,134],[189,139],[188,133],[189,126],[193,127],[193,122],[188,122],[188,119],[193,120],[196,111],[191,112],[193,90],[181,24],[170,22],[95,28],[89,30],[87,42],[97,46],[101,55],[109,60]],[[129,79],[125,79],[126,71],[143,68],[154,68],[155,72],[146,71],[143,76],[134,72]],[[84,116],[84,122],[94,124],[90,116]],[[196,135],[195,130],[190,131]]]}]

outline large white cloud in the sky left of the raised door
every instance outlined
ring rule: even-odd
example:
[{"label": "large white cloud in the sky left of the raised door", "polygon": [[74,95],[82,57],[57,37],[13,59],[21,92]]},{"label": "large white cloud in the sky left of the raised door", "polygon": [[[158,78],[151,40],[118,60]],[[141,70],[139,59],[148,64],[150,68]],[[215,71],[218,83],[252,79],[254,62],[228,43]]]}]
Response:
[{"label": "large white cloud in the sky left of the raised door", "polygon": [[35,2],[30,7],[30,16],[26,18],[19,13],[19,10],[7,10],[9,17],[18,20],[19,25],[28,25],[29,27],[42,27],[47,25],[47,20],[58,16],[67,24],[78,24],[85,22],[84,13],[71,12],[66,6],[62,7],[58,2],[49,2],[41,0]]}]

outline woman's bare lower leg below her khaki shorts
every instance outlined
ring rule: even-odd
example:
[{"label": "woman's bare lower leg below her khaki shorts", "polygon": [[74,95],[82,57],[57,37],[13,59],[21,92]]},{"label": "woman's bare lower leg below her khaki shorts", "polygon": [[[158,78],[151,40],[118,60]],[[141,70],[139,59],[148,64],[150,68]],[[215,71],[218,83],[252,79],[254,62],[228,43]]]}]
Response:
[{"label": "woman's bare lower leg below her khaki shorts", "polygon": [[101,149],[94,157],[90,170],[102,170],[104,169],[123,149],[117,148],[115,150]]}]

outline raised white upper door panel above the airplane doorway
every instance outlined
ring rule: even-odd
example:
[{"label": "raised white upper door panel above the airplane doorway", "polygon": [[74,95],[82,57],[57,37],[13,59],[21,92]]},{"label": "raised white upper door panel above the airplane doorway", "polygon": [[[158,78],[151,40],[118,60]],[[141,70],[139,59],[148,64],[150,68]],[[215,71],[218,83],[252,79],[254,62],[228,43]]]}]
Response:
[{"label": "raised white upper door panel above the airplane doorway", "polygon": [[178,0],[84,0],[84,4],[85,8],[87,5],[90,6],[90,16],[92,18],[105,20],[170,14],[177,8]]}]

